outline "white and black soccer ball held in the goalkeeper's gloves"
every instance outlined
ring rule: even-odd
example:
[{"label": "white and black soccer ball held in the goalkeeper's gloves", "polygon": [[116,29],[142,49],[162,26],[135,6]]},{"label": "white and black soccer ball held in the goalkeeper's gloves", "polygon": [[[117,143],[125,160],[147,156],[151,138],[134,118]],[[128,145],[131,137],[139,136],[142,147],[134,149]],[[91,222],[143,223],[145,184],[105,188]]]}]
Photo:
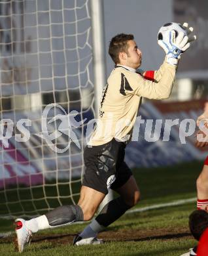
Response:
[{"label": "white and black soccer ball held in the goalkeeper's gloves", "polygon": [[158,31],[158,41],[162,40],[165,44],[170,44],[170,32],[171,30],[175,30],[175,38],[179,35],[180,32],[184,33],[184,35],[187,35],[186,30],[182,27],[181,24],[176,22],[170,22],[164,24]]}]

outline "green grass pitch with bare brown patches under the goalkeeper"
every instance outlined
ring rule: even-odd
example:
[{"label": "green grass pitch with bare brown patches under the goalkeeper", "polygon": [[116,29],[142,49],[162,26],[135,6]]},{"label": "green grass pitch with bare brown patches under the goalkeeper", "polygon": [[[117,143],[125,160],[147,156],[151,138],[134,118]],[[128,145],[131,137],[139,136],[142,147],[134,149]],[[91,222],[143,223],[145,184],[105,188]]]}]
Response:
[{"label": "green grass pitch with bare brown patches under the goalkeeper", "polygon": [[[135,207],[173,202],[196,196],[196,177],[203,163],[193,162],[156,169],[136,169],[142,200]],[[188,215],[196,203],[129,213],[99,234],[103,245],[71,245],[73,236],[86,224],[44,230],[33,236],[24,255],[181,255],[196,245],[188,230]],[[12,221],[0,220],[1,232],[12,230]],[[1,255],[18,255],[13,235],[0,240]]]}]

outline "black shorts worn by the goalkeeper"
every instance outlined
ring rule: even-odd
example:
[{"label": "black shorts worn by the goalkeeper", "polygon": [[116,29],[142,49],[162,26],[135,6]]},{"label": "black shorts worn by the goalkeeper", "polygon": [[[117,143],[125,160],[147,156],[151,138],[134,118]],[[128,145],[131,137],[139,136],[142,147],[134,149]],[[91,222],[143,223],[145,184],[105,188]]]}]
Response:
[{"label": "black shorts worn by the goalkeeper", "polygon": [[83,186],[94,188],[107,194],[109,188],[116,190],[124,185],[132,175],[124,161],[126,144],[115,139],[100,146],[84,149]]}]

